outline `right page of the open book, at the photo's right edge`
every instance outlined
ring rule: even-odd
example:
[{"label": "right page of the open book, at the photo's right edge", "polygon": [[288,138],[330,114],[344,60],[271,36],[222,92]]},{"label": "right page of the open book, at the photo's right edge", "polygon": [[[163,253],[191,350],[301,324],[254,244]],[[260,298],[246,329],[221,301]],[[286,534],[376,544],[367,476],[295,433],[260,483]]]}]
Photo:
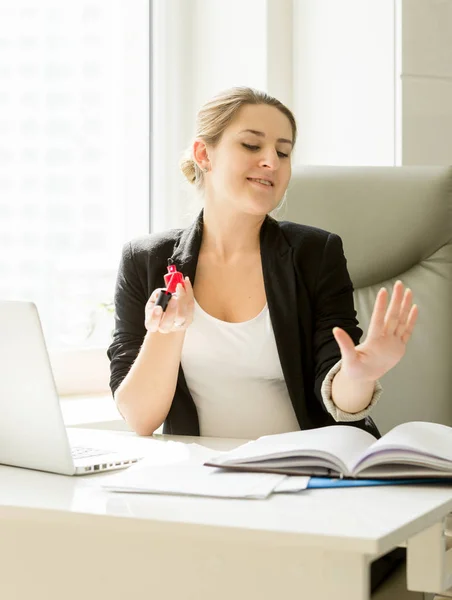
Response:
[{"label": "right page of the open book, at the photo's right edge", "polygon": [[397,425],[368,448],[354,470],[404,460],[432,468],[447,468],[450,463],[452,470],[452,428],[421,421]]}]

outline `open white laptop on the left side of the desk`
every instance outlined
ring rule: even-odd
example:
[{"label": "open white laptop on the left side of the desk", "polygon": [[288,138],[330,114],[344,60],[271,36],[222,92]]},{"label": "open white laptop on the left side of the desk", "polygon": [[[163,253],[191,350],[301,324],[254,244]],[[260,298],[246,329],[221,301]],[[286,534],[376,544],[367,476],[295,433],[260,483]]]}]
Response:
[{"label": "open white laptop on the left side of the desk", "polygon": [[0,300],[0,464],[86,475],[128,467],[135,454],[71,446],[37,307]]}]

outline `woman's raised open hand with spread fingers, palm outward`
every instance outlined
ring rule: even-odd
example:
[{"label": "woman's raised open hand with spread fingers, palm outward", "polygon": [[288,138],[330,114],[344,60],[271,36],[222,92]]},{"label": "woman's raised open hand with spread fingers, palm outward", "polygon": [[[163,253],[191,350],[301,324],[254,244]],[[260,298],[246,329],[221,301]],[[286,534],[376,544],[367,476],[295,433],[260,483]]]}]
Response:
[{"label": "woman's raised open hand with spread fingers, palm outward", "polygon": [[333,335],[342,354],[341,371],[350,379],[375,381],[394,367],[405,354],[413,333],[418,308],[413,294],[401,281],[394,285],[391,301],[381,288],[375,300],[367,337],[355,346],[343,329],[335,327]]}]

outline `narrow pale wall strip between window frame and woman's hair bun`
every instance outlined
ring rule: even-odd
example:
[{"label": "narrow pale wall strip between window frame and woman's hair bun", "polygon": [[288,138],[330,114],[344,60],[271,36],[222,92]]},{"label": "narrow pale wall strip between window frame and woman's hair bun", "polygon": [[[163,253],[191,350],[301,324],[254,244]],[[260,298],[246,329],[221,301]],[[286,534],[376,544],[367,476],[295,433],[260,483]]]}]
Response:
[{"label": "narrow pale wall strip between window frame and woman's hair bun", "polygon": [[151,228],[180,224],[179,159],[191,131],[193,11],[186,0],[153,0]]}]

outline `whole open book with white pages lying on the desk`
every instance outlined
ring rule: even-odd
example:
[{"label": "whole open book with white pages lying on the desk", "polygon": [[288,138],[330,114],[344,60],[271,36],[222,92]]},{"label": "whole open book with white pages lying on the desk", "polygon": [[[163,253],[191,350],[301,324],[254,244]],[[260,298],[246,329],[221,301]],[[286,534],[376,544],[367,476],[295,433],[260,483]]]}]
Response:
[{"label": "whole open book with white pages lying on the desk", "polygon": [[452,478],[452,427],[403,423],[377,440],[357,427],[331,425],[264,436],[205,464],[320,477]]}]

